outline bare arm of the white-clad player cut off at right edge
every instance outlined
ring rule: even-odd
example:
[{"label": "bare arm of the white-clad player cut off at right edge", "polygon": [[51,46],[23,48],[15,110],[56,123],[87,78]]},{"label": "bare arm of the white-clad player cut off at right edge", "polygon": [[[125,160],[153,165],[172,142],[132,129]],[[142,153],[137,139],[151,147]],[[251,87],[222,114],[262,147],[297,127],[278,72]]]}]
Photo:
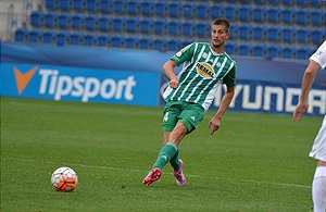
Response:
[{"label": "bare arm of the white-clad player cut off at right edge", "polygon": [[309,91],[315,80],[318,70],[321,70],[321,68],[322,68],[321,65],[313,60],[309,63],[308,67],[305,68],[305,72],[304,72],[304,75],[302,78],[301,95],[299,98],[299,103],[293,112],[293,121],[294,122],[300,122],[300,120],[302,117],[302,113],[305,113],[308,111]]}]

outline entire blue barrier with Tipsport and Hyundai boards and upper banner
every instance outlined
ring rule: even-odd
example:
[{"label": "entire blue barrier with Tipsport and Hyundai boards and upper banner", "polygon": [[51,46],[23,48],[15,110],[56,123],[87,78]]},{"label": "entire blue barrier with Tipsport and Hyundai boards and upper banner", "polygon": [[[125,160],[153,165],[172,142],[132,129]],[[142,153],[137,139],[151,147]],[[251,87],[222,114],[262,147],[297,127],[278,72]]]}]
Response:
[{"label": "entire blue barrier with Tipsport and Hyundai boards and upper banner", "polygon": [[[1,96],[149,107],[165,103],[162,92],[168,80],[162,65],[174,52],[10,42],[1,46]],[[309,61],[234,59],[238,73],[230,111],[292,113]],[[212,110],[220,107],[223,92],[221,87]],[[326,70],[318,72],[309,98],[308,114],[324,115]]]}]

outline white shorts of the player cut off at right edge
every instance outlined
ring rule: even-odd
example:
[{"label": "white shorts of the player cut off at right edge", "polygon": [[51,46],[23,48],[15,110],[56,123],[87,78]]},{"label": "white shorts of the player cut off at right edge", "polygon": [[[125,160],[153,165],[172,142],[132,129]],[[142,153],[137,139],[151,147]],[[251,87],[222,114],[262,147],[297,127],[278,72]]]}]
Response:
[{"label": "white shorts of the player cut off at right edge", "polygon": [[326,162],[326,115],[309,157]]}]

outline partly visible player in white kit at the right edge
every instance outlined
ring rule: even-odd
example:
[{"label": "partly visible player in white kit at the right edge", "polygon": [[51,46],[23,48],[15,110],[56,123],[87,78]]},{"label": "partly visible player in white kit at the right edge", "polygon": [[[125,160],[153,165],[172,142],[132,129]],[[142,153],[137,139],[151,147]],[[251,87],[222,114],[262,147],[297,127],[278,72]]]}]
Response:
[{"label": "partly visible player in white kit at the right edge", "polygon": [[[304,71],[301,85],[301,95],[299,103],[293,112],[293,121],[300,122],[302,113],[309,108],[308,95],[312,84],[315,80],[319,70],[326,66],[326,40],[310,58],[310,63]],[[323,120],[322,127],[315,138],[312,150],[309,154],[317,160],[317,167],[312,185],[312,197],[314,202],[314,212],[326,211],[326,114]]]}]

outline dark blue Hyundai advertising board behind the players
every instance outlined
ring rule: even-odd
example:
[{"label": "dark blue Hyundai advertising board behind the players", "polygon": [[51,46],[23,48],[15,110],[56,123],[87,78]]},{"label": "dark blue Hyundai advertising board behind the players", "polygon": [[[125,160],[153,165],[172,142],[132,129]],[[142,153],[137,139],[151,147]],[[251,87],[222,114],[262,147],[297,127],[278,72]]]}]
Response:
[{"label": "dark blue Hyundai advertising board behind the players", "polygon": [[[325,71],[323,71],[325,72]],[[271,74],[271,73],[269,73]],[[303,72],[300,73],[301,78]],[[268,75],[266,75],[266,78]],[[323,73],[317,75],[318,82],[325,82]],[[160,87],[160,105],[165,105],[163,92],[168,80],[162,76]],[[326,113],[326,84],[315,83],[309,95],[308,115],[323,116]],[[226,87],[220,86],[210,110],[218,110]],[[229,111],[292,114],[301,92],[301,82],[287,83],[279,80],[249,80],[238,78],[235,87],[235,97]]]}]

